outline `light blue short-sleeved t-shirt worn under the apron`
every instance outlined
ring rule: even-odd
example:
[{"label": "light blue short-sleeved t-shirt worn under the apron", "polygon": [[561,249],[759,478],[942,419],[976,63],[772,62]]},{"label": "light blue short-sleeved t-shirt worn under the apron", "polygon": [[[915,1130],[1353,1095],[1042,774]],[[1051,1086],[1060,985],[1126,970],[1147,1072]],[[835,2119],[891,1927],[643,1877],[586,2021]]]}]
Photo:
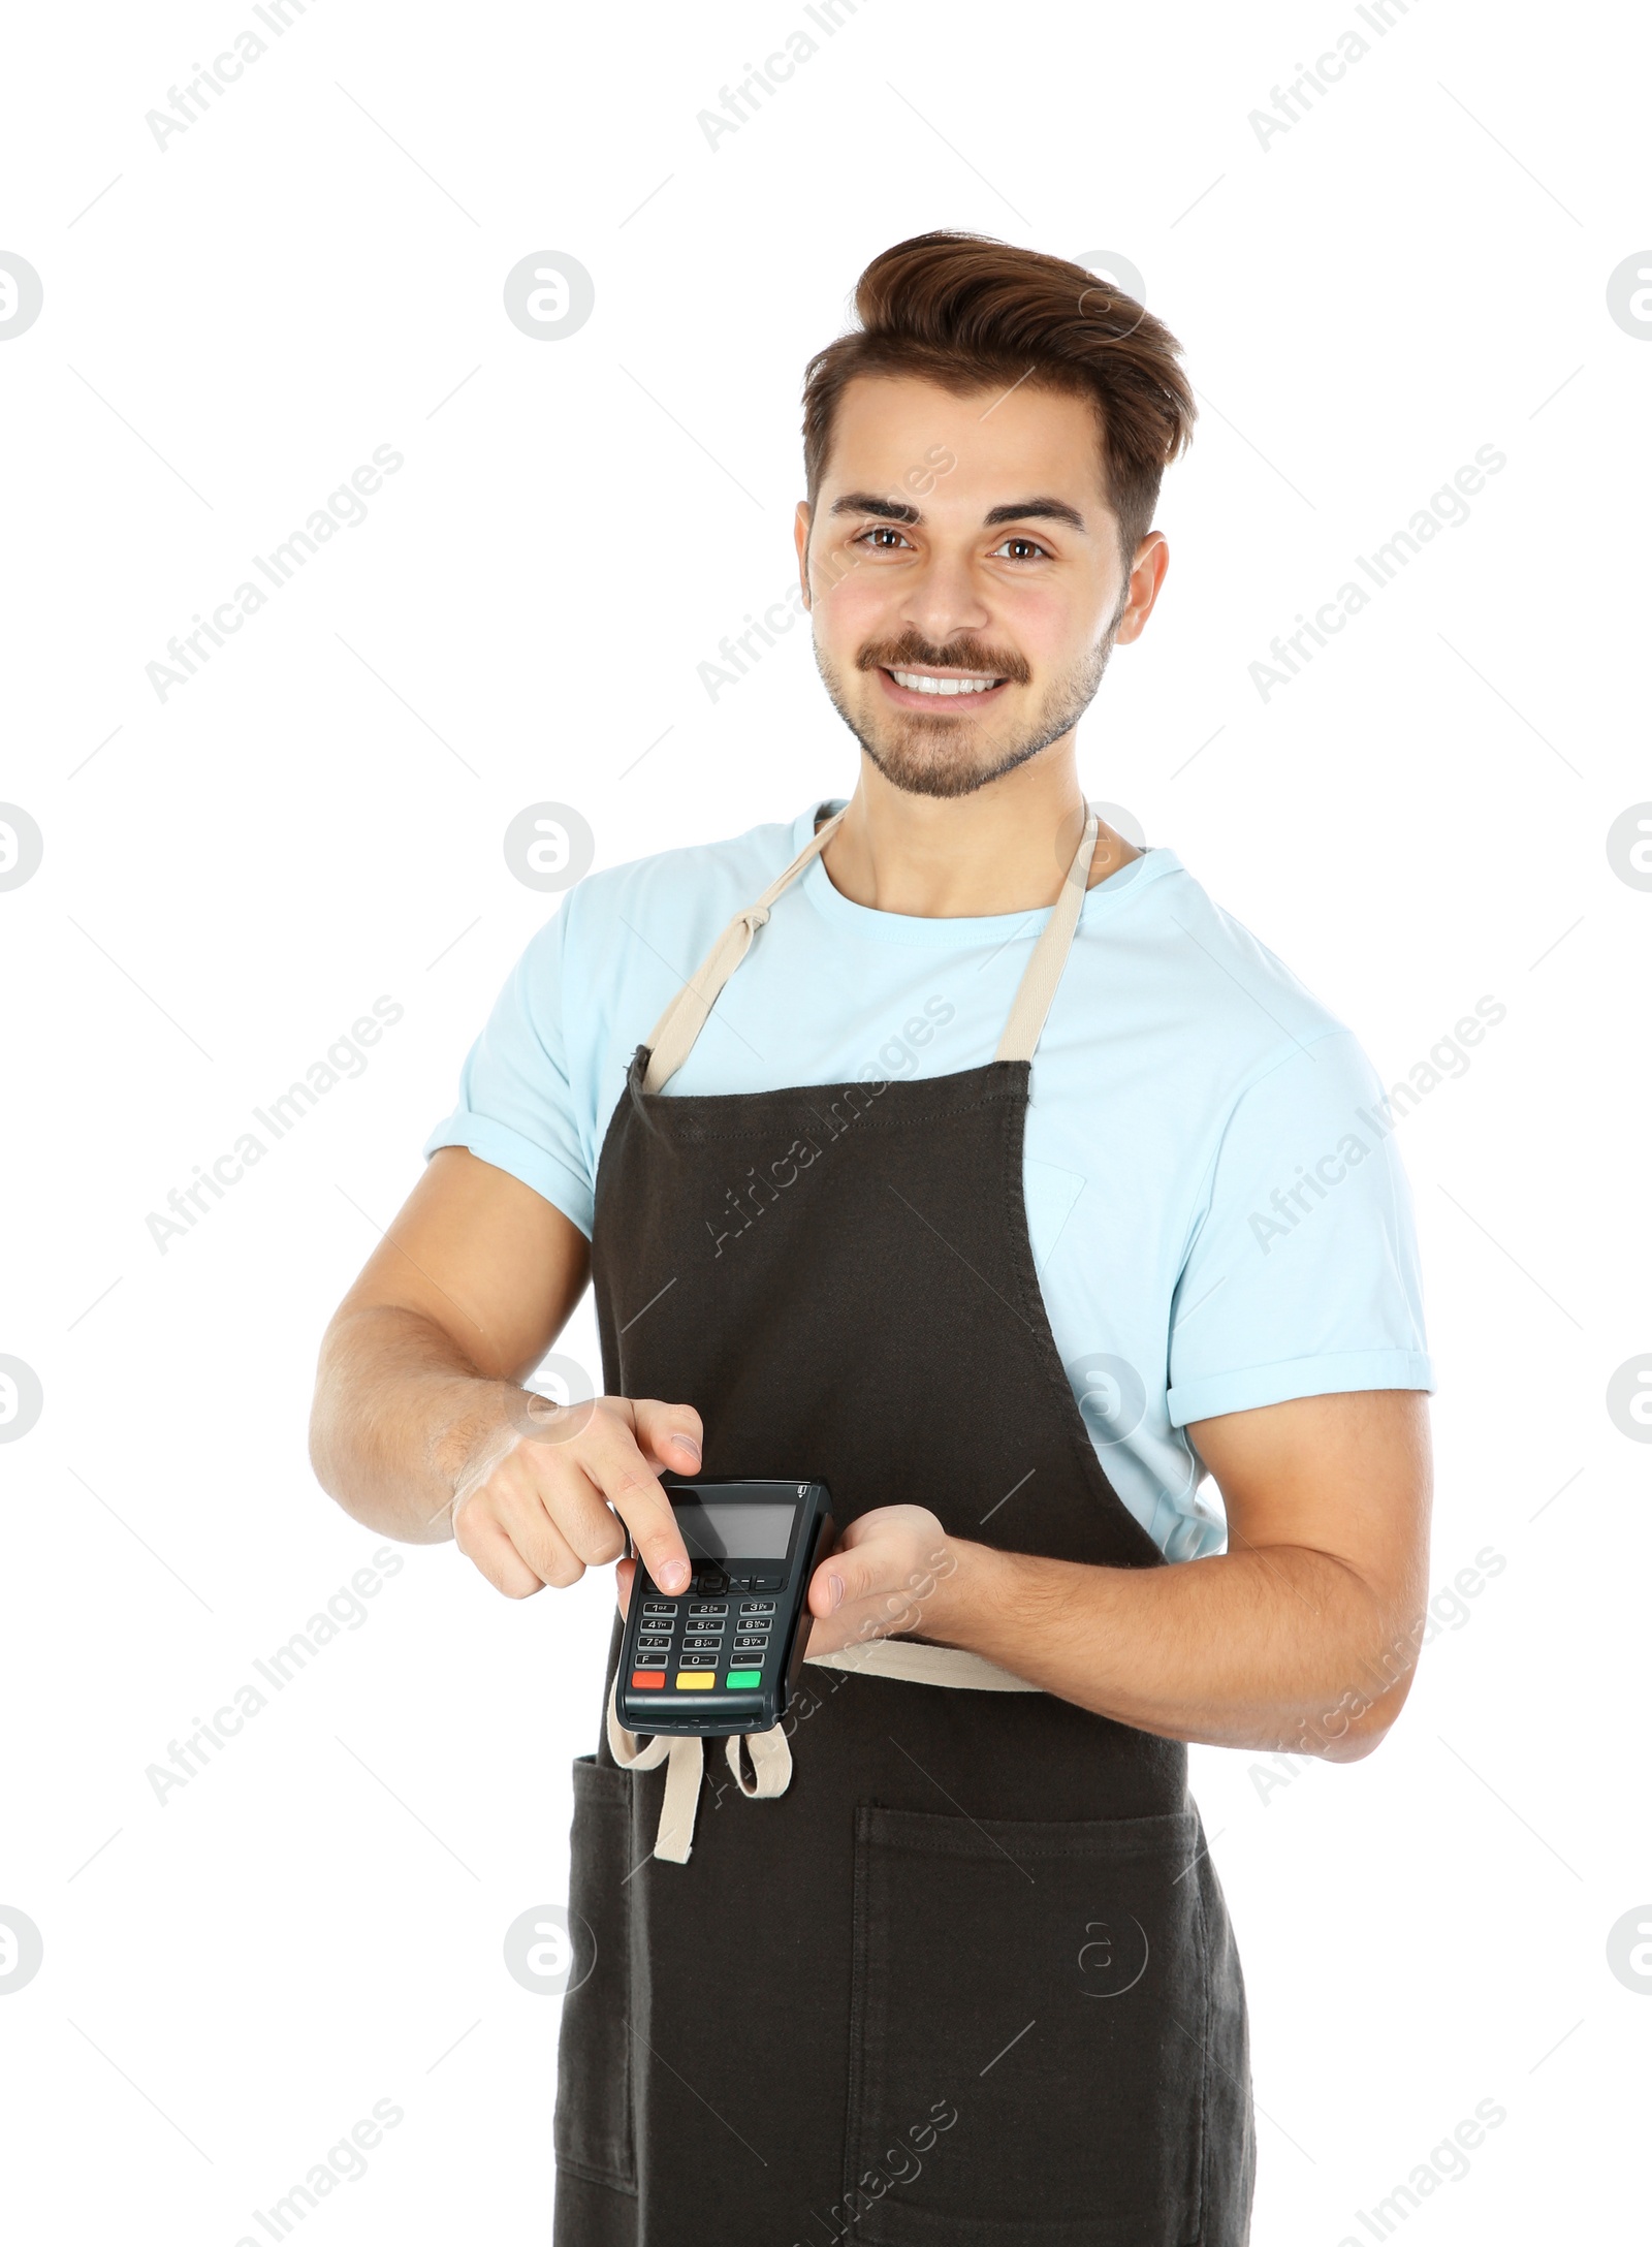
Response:
[{"label": "light blue short-sleeved t-shirt worn under the apron", "polygon": [[[425,1153],[465,1146],[589,1234],[632,1054],[818,809],[587,874],[517,962]],[[816,858],[665,1097],[973,1070],[1047,919],[874,912]],[[1032,1063],[1027,1225],[1097,1456],[1169,1559],[1225,1544],[1189,1422],[1434,1386],[1380,1103],[1353,1034],[1176,852],[1086,894]]]}]

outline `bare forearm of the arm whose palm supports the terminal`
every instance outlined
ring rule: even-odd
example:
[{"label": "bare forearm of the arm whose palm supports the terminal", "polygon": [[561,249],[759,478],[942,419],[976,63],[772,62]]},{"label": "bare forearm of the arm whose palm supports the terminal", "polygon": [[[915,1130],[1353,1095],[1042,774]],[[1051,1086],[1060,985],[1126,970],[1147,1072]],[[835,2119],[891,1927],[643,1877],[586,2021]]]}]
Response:
[{"label": "bare forearm of the arm whose palm supports the terminal", "polygon": [[1351,1759],[1398,1714],[1420,1631],[1326,1553],[1090,1568],[948,1539],[917,1631],[1167,1739]]}]

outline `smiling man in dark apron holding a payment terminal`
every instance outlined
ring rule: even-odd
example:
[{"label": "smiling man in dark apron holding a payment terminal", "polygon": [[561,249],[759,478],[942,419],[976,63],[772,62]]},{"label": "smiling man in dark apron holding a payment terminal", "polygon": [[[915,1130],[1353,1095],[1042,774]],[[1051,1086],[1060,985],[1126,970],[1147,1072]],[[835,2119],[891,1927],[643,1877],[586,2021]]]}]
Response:
[{"label": "smiling man in dark apron holding a payment terminal", "polygon": [[[672,1807],[611,1699],[575,1764],[564,2247],[1234,2247],[1245,2000],[1184,1741],[1349,1759],[1405,1701],[1409,1200],[1353,1036],[1079,791],[1164,582],[1178,344],[957,234],[856,308],[798,508],[854,795],[569,894],[328,1330],[312,1452],[510,1598],[627,1530],[679,1591],[661,1472],[834,1494],[753,1782],[692,1744]],[[587,1276],[607,1395],[535,1407]]]}]

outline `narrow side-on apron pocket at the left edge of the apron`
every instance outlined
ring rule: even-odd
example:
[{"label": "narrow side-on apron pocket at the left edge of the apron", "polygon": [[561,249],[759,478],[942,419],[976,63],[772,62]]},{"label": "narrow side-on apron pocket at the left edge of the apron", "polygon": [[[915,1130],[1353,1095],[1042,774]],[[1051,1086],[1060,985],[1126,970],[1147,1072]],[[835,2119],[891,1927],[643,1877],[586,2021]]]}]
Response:
[{"label": "narrow side-on apron pocket at the left edge of the apron", "polygon": [[573,1764],[569,1935],[573,1966],[557,2036],[555,2157],[636,2191],[632,2132],[632,1775],[591,1755]]}]

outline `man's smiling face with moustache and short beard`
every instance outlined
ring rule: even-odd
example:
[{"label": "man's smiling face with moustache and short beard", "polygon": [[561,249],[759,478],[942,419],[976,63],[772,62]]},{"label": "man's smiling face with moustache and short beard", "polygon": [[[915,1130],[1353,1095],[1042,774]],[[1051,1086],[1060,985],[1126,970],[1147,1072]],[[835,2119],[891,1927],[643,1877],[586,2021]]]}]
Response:
[{"label": "man's smiling face with moustache and short beard", "polygon": [[845,389],[798,555],[827,694],[913,795],[969,795],[1068,735],[1167,562],[1151,533],[1126,575],[1088,400],[908,375]]}]

